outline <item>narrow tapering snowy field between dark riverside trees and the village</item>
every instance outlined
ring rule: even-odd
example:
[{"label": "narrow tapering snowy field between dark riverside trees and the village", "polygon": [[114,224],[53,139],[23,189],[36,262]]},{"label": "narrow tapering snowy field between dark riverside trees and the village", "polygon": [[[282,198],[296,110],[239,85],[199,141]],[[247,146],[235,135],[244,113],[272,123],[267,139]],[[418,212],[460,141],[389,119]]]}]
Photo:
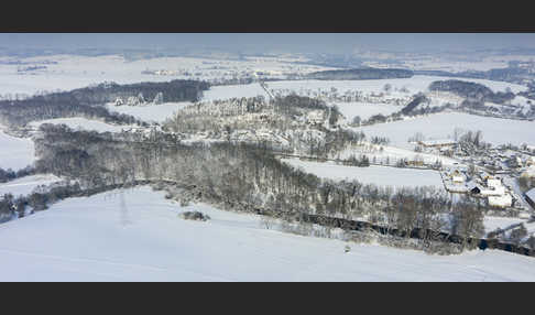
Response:
[{"label": "narrow tapering snowy field between dark riverside trees and the village", "polygon": [[444,187],[440,174],[430,170],[398,169],[387,166],[345,166],[334,162],[308,162],[297,159],[282,160],[293,166],[303,167],[305,172],[318,177],[331,180],[357,180],[364,184],[392,187],[435,186]]}]

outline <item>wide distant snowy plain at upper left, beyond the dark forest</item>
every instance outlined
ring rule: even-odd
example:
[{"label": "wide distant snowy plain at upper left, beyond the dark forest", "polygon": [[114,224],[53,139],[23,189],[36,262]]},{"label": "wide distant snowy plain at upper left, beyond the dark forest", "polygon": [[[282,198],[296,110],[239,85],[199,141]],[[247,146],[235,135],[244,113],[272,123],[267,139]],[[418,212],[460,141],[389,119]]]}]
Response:
[{"label": "wide distant snowy plain at upper left, beyond the dark forest", "polygon": [[[8,58],[3,58],[8,61]],[[242,61],[160,57],[127,61],[118,55],[76,56],[54,55],[31,58],[12,58],[28,66],[46,66],[43,70],[18,73],[20,65],[0,64],[0,94],[29,94],[39,90],[69,90],[102,82],[131,84],[139,82],[168,82],[172,79],[231,78],[236,74],[256,72],[272,75],[309,73],[331,69],[323,66],[293,64],[285,58],[245,58]],[[48,64],[45,64],[45,63]],[[55,63],[55,64],[51,64]],[[166,75],[143,74],[150,70]]]}]

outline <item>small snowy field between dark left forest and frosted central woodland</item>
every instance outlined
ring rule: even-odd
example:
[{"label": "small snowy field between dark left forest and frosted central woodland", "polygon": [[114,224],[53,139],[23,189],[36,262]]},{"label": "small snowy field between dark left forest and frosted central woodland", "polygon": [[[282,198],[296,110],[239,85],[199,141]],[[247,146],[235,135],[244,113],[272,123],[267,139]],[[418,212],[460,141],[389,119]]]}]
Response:
[{"label": "small snowy field between dark left forest and frosted central woodland", "polygon": [[146,106],[114,106],[112,104],[107,104],[106,107],[110,111],[131,115],[146,122],[162,123],[166,119],[173,118],[176,111],[188,105],[190,105],[190,102],[184,101]]}]

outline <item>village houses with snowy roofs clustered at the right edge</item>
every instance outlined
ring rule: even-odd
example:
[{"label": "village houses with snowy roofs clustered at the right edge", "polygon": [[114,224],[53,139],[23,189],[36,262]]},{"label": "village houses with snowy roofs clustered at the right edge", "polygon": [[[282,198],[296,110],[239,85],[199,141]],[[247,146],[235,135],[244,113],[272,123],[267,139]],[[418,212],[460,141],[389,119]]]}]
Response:
[{"label": "village houses with snowy roofs clustered at the right edge", "polygon": [[[422,152],[459,161],[440,172],[448,192],[487,199],[490,207],[522,210],[523,216],[535,210],[535,185],[531,184],[535,184],[535,152],[529,146],[487,145],[470,154],[449,139],[422,140],[417,144]],[[528,183],[527,187],[521,187],[521,178]],[[529,186],[532,189],[526,191]]]}]

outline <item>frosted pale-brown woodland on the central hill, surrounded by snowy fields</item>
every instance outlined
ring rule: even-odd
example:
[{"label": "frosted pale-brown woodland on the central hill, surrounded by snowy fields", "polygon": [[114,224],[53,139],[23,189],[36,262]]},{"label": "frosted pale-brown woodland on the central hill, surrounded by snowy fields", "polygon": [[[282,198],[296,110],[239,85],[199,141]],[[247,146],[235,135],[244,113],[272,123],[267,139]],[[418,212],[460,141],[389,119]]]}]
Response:
[{"label": "frosted pale-brown woodland on the central hill, surrounded by snowy fields", "polygon": [[341,117],[337,107],[297,95],[271,101],[233,98],[186,107],[164,129],[183,139],[203,135],[229,142],[268,142],[277,151],[329,158],[363,140],[361,134],[338,128]]}]

